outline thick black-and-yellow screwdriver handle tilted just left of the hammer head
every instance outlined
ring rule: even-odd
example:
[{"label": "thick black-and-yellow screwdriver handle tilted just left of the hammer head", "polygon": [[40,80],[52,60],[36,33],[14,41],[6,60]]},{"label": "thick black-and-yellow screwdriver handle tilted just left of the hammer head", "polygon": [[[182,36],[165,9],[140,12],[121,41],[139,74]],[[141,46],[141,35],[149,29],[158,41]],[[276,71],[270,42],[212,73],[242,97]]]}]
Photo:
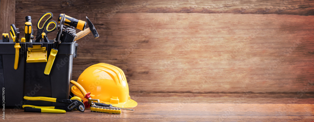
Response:
[{"label": "thick black-and-yellow screwdriver handle tilted just left of the hammer head", "polygon": [[[63,13],[59,15],[58,22],[60,23],[61,17],[63,16]],[[84,30],[86,26],[86,22],[82,20],[78,20],[75,18],[72,18],[68,15],[65,15],[65,22],[64,25],[73,26],[74,28],[78,28],[79,30]]]}]

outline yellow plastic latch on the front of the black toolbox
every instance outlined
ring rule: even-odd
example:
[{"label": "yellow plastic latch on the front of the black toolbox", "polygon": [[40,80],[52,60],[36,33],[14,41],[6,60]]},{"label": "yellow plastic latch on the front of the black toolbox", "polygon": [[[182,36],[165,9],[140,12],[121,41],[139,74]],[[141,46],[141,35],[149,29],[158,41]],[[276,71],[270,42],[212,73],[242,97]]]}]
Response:
[{"label": "yellow plastic latch on the front of the black toolbox", "polygon": [[28,48],[26,62],[47,62],[46,47],[41,47],[41,45],[33,45],[32,48]]}]

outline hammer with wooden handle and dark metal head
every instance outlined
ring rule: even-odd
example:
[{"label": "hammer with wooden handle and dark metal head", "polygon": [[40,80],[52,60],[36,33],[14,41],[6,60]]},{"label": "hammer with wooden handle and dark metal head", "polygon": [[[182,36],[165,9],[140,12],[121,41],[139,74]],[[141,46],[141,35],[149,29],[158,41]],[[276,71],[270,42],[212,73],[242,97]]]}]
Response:
[{"label": "hammer with wooden handle and dark metal head", "polygon": [[76,41],[76,40],[78,40],[78,39],[80,39],[80,38],[86,36],[86,35],[87,35],[88,33],[90,33],[90,32],[93,33],[93,35],[94,35],[95,38],[98,38],[98,37],[99,37],[98,32],[97,32],[96,28],[94,27],[93,23],[90,22],[90,20],[89,20],[87,17],[86,17],[86,19],[87,19],[87,23],[88,23],[89,28],[86,28],[84,31],[78,32],[78,33],[76,34],[77,37],[74,38],[74,41]]}]

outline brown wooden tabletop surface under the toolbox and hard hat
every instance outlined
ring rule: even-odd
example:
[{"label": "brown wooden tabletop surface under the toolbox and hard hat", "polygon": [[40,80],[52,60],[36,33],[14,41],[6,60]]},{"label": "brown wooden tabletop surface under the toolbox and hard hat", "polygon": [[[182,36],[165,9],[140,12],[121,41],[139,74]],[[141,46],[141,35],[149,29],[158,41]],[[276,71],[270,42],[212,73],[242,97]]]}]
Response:
[{"label": "brown wooden tabletop surface under the toolbox and hard hat", "polygon": [[[6,109],[5,120],[21,121],[313,121],[314,94],[130,94],[134,111],[105,114],[71,111],[30,113]],[[302,95],[302,96],[301,96]],[[17,112],[14,112],[17,111]]]}]

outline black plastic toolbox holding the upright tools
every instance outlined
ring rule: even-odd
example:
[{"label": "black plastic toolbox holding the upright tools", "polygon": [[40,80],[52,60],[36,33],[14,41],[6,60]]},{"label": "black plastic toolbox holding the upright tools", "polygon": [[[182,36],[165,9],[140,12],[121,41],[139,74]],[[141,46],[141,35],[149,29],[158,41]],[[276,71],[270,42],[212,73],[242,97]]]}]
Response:
[{"label": "black plastic toolbox holding the upright tools", "polygon": [[30,50],[35,45],[37,45],[36,47],[46,48],[46,58],[48,59],[53,47],[52,42],[19,43],[21,48],[19,48],[18,69],[14,69],[15,42],[13,40],[10,40],[10,42],[0,40],[0,88],[4,89],[5,106],[20,109],[24,104],[35,106],[66,105],[23,99],[24,96],[69,99],[72,64],[73,58],[76,57],[77,43],[59,44],[57,56],[48,76],[44,74],[47,62],[34,61],[28,63],[26,61],[29,52],[35,52],[35,50]]}]

